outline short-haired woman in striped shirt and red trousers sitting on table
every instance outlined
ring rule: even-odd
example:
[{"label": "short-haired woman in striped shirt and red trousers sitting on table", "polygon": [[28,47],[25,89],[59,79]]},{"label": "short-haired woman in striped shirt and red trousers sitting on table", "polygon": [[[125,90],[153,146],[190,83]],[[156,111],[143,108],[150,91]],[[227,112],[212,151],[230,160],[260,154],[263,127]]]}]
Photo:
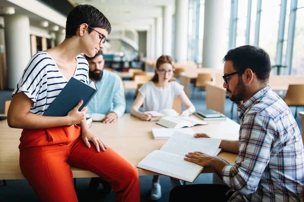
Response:
[{"label": "short-haired woman in striped shirt and red trousers sitting on table", "polygon": [[70,166],[109,181],[117,201],[139,201],[138,173],[89,130],[81,100],[65,117],[42,116],[71,77],[88,84],[89,65],[111,31],[95,7],[80,5],[67,16],[57,47],[36,53],[13,92],[8,124],[22,128],[20,169],[41,201],[78,201]]}]

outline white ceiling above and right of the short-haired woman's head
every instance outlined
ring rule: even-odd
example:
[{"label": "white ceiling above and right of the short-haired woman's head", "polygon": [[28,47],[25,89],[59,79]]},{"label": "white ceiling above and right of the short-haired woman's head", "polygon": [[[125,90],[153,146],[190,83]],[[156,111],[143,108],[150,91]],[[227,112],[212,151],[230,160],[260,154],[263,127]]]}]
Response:
[{"label": "white ceiling above and right of the short-haired woman's head", "polygon": [[99,9],[113,28],[123,27],[143,31],[150,29],[155,18],[162,17],[162,7],[174,0],[72,0],[75,4],[90,4]]}]

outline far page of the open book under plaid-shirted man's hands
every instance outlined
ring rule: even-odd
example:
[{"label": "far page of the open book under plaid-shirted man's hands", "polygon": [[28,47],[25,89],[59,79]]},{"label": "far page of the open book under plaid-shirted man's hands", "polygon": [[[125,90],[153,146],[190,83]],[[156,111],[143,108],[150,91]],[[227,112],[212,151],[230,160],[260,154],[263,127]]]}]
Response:
[{"label": "far page of the open book under plaid-shirted man's hands", "polygon": [[195,138],[192,135],[187,135],[175,131],[171,138],[162,146],[161,151],[181,155],[184,157],[189,152],[201,151],[208,155],[214,155],[218,149],[220,139],[213,138]]}]

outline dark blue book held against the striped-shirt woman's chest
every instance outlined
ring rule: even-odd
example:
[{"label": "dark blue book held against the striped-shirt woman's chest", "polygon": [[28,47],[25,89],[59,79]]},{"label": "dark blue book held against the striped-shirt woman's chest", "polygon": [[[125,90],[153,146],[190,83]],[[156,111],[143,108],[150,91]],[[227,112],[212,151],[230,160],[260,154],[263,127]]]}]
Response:
[{"label": "dark blue book held against the striped-shirt woman's chest", "polygon": [[84,103],[78,111],[82,111],[82,109],[89,104],[96,92],[97,87],[94,82],[87,85],[71,77],[43,116],[64,117],[77,106],[80,100],[83,100]]}]

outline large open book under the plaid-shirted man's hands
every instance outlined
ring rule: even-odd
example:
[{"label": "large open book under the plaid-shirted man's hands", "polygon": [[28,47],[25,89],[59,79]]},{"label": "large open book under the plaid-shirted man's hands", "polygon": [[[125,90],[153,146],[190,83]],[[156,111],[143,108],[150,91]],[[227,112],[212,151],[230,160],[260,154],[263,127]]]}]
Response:
[{"label": "large open book under the plaid-shirted man's hands", "polygon": [[138,163],[137,168],[192,183],[200,175],[204,167],[185,161],[185,155],[194,151],[217,155],[216,152],[220,142],[220,139],[195,138],[193,135],[174,132],[160,150],[154,150],[146,156]]}]

